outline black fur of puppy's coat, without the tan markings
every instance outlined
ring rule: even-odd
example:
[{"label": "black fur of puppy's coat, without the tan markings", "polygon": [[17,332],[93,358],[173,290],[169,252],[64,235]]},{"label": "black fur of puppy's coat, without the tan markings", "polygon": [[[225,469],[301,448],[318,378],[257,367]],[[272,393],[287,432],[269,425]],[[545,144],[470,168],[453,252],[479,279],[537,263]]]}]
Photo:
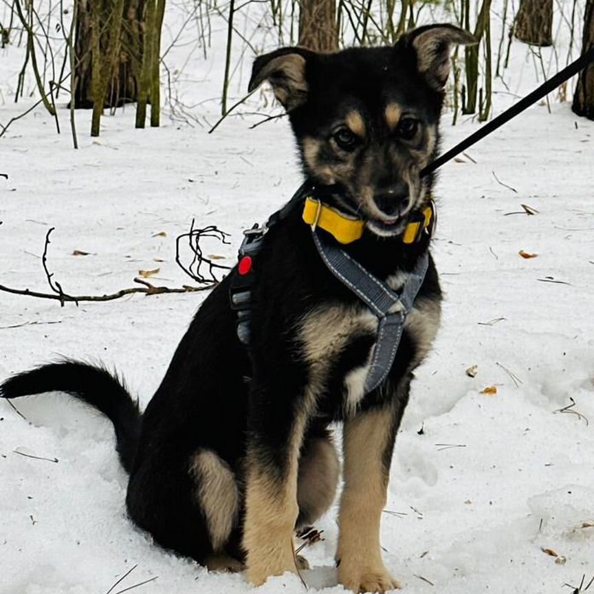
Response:
[{"label": "black fur of puppy's coat, without the tan markings", "polygon": [[[419,31],[426,33],[426,29]],[[368,225],[362,238],[344,249],[382,279],[412,270],[430,241],[423,236],[419,243],[404,245],[400,236],[408,218],[426,206],[430,196],[433,178],[420,180],[418,171],[421,161],[428,162],[437,153],[443,102],[441,89],[434,88],[434,81],[419,72],[421,58],[414,43],[415,34],[410,34],[395,47],[337,54],[284,48],[257,58],[250,83],[254,88],[269,80],[290,108],[305,175],[312,184],[327,186],[326,201],[375,221],[375,227]],[[437,48],[441,62],[448,49],[448,43]],[[299,80],[300,73],[303,80]],[[422,135],[414,142],[399,137],[398,129],[386,124],[386,104],[397,104],[403,113],[412,113],[420,122]],[[345,114],[353,110],[364,122],[364,137],[358,138],[356,151],[347,154],[336,147],[333,133],[337,122],[344,126]],[[319,148],[315,162],[306,154],[308,138]],[[328,167],[343,173],[329,181]],[[345,169],[351,174],[344,173]],[[410,188],[408,210],[404,209],[398,221],[386,223],[386,213],[381,208],[373,210],[373,195],[382,195],[385,203],[386,191],[389,195],[391,188],[401,187],[403,176],[412,180],[406,182]],[[371,188],[368,203],[360,199],[362,188]],[[222,550],[243,560],[243,522],[250,521],[250,511],[246,518],[244,507],[245,482],[249,480],[246,469],[263,469],[280,492],[291,472],[291,439],[297,430],[298,411],[304,410],[308,386],[314,382],[303,325],[313,311],[335,306],[363,308],[322,263],[311,230],[301,219],[302,210],[301,203],[289,209],[265,235],[256,257],[249,354],[236,336],[228,277],[195,315],[142,417],[123,384],[104,369],[78,362],[42,366],[15,375],[0,386],[0,395],[6,398],[64,391],[107,415],[115,427],[120,460],[130,473],[126,503],[131,518],[163,547],[199,562],[221,550],[213,550],[208,514],[196,495],[196,479],[190,472],[193,456],[204,450],[216,452],[234,474],[240,503]],[[439,305],[440,299],[437,272],[430,259],[417,300]],[[320,328],[320,333],[329,336],[332,331]],[[328,439],[329,423],[344,419],[344,378],[366,362],[374,340],[371,331],[353,331],[328,362],[325,377],[318,382],[314,408],[307,414],[302,456],[310,439]],[[377,451],[386,476],[412,371],[419,363],[417,347],[417,337],[406,329],[386,385],[364,397],[353,413],[391,411],[386,413],[392,415],[386,446]],[[300,515],[307,516],[306,511],[302,509]],[[366,587],[363,577],[361,580],[360,586],[352,586],[346,578],[343,582],[347,587]]]}]

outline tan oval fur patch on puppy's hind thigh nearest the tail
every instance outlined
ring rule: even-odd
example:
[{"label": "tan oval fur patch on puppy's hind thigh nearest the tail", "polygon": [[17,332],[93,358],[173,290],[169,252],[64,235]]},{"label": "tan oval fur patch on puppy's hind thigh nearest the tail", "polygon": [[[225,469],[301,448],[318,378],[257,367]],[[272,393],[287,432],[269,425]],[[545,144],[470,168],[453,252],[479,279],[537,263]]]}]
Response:
[{"label": "tan oval fur patch on puppy's hind thigh nearest the tail", "polygon": [[219,551],[237,519],[239,491],[229,465],[211,450],[195,454],[190,473],[197,483],[197,494],[212,540]]}]

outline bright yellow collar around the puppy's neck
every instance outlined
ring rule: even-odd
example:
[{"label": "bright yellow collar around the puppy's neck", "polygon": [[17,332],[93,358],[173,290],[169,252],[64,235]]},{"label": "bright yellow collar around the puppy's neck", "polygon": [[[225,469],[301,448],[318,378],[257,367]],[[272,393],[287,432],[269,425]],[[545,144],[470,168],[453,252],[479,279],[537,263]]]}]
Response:
[{"label": "bright yellow collar around the puppy's neck", "polygon": [[[402,243],[415,243],[420,238],[421,233],[434,224],[433,201],[430,202],[430,206],[423,210],[422,217],[419,217],[418,221],[412,221],[406,225],[402,234]],[[340,210],[326,206],[312,197],[305,199],[303,220],[314,229],[320,227],[329,232],[338,243],[356,241],[362,236],[365,226],[363,219],[344,214]],[[432,232],[432,230],[430,229],[429,232]]]}]

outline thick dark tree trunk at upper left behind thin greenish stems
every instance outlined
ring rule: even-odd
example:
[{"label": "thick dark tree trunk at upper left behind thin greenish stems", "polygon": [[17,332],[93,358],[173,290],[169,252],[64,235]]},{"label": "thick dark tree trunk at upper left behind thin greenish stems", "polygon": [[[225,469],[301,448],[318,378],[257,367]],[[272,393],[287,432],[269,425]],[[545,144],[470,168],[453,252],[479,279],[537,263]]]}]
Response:
[{"label": "thick dark tree trunk at upper left behind thin greenish stems", "polygon": [[[77,108],[91,109],[94,106],[93,89],[93,17],[95,10],[100,23],[99,48],[104,64],[107,59],[108,45],[117,43],[113,63],[107,68],[107,91],[102,107],[118,107],[124,103],[136,101],[138,97],[138,78],[142,62],[142,28],[144,21],[144,0],[125,0],[122,10],[122,23],[118,40],[110,40],[111,11],[117,5],[110,0],[76,0],[78,3],[74,54],[76,73],[74,105]],[[98,3],[93,5],[92,3]],[[96,61],[95,61],[96,63]]]}]

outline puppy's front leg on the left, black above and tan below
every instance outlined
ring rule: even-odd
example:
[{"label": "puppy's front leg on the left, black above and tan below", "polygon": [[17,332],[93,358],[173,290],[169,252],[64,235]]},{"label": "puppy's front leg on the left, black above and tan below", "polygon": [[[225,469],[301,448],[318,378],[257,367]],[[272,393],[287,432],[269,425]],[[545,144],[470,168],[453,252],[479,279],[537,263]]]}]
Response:
[{"label": "puppy's front leg on the left, black above and tan below", "polygon": [[271,575],[296,572],[293,532],[307,403],[292,399],[285,385],[254,390],[250,409],[243,547],[246,577],[257,586]]}]

